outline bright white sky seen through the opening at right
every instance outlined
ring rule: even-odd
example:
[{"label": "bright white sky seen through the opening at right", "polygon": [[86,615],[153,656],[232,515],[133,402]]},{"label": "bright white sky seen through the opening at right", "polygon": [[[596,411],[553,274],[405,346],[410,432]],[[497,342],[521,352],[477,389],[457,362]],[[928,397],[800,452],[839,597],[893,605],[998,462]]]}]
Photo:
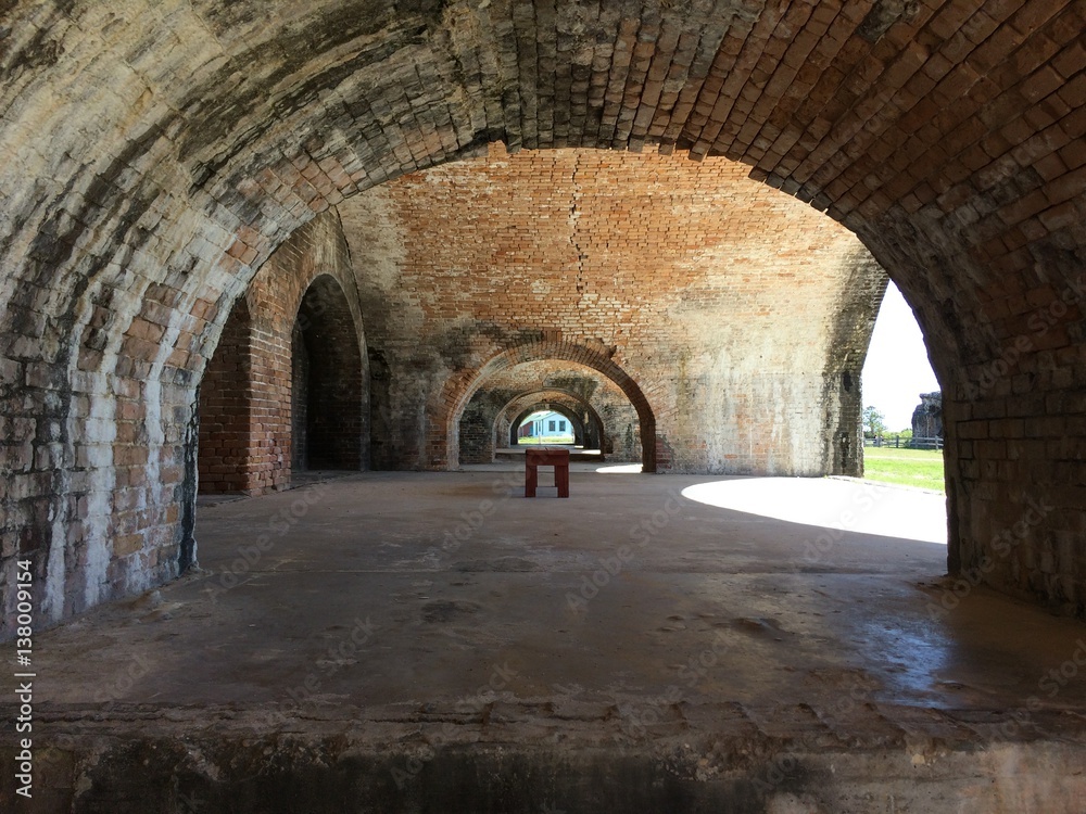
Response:
[{"label": "bright white sky seen through the opening at right", "polygon": [[893,282],[871,334],[862,387],[863,406],[883,414],[891,432],[910,429],[920,394],[939,390],[917,318]]}]

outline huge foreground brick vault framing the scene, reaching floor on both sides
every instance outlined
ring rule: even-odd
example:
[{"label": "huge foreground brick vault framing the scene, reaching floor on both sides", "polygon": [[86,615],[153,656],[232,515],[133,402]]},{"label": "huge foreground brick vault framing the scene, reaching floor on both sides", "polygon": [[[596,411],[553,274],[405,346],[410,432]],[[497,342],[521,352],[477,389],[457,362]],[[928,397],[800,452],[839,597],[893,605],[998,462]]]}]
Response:
[{"label": "huge foreground brick vault framing the scene, reaching floor on both sides", "polygon": [[951,570],[1084,613],[1081,3],[15,0],[0,27],[0,557],[42,620],[185,561],[194,389],[269,254],[497,140],[724,155],[846,224],[944,385]]}]

